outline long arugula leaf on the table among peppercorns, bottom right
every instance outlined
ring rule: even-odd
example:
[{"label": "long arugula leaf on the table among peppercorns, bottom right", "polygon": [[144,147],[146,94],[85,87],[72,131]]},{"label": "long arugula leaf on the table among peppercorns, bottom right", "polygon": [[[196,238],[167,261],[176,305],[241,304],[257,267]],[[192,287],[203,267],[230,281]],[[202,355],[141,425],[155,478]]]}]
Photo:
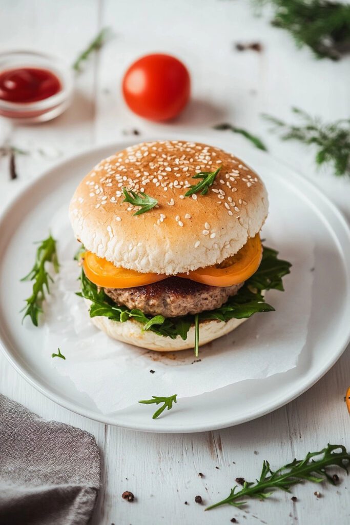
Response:
[{"label": "long arugula leaf on the table among peppercorns, bottom right", "polygon": [[[339,450],[339,451],[336,451]],[[319,457],[317,457],[319,456]],[[301,483],[304,480],[320,483],[327,479],[333,485],[335,482],[328,474],[328,467],[340,467],[347,473],[347,467],[350,463],[350,454],[347,453],[343,445],[330,445],[328,443],[326,448],[319,452],[309,452],[305,459],[294,459],[292,463],[280,467],[278,470],[272,471],[268,461],[262,464],[262,471],[260,478],[254,481],[245,481],[243,488],[236,492],[238,486],[231,489],[230,495],[218,503],[211,505],[205,510],[214,509],[221,505],[233,505],[234,507],[241,507],[245,505],[246,501],[237,501],[241,498],[251,497],[266,499],[272,495],[271,489],[282,489],[290,492],[292,485]],[[269,490],[269,492],[267,492]]]}]

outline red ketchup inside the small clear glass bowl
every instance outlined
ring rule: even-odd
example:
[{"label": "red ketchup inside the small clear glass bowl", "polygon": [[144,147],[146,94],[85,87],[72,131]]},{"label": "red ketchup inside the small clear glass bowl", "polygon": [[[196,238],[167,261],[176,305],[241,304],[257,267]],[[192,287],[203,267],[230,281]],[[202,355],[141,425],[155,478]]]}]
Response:
[{"label": "red ketchup inside the small clear glass bowl", "polygon": [[0,72],[0,99],[28,104],[61,91],[60,80],[48,69],[24,67]]}]

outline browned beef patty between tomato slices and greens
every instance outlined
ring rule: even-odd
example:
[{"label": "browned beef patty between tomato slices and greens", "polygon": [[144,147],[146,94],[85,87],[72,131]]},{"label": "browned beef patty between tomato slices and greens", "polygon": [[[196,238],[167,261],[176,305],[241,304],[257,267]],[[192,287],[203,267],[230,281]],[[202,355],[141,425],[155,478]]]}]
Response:
[{"label": "browned beef patty between tomato slices and greens", "polygon": [[218,287],[181,277],[167,277],[163,281],[134,288],[104,288],[105,293],[118,304],[144,313],[164,317],[185,316],[204,310],[214,310],[236,295],[243,285]]}]

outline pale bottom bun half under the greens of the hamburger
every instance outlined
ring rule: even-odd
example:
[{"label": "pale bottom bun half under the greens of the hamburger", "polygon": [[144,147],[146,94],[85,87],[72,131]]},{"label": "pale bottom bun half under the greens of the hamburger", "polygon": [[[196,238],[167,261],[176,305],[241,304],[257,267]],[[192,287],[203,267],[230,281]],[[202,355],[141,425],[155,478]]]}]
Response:
[{"label": "pale bottom bun half under the greens of the hamburger", "polygon": [[[89,301],[87,301],[89,302]],[[151,330],[143,331],[142,324],[137,321],[118,322],[107,317],[91,317],[92,323],[107,333],[109,337],[124,343],[134,344],[141,348],[155,350],[157,352],[176,352],[193,348],[195,343],[195,328],[188,330],[187,339],[184,341],[179,335],[176,339],[157,335]],[[223,321],[203,321],[199,325],[199,346],[214,341],[221,335],[235,330],[246,319],[230,319]]]}]

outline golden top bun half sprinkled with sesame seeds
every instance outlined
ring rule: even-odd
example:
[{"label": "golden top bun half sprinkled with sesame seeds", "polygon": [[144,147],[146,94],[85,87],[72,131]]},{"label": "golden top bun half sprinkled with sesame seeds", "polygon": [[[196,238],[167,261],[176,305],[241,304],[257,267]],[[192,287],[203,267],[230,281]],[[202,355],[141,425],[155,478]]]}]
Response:
[{"label": "golden top bun half sprinkled with sesame seeds", "polygon": [[[221,166],[206,195],[185,197],[198,172]],[[158,204],[141,215],[122,187]],[[256,235],[268,214],[266,188],[249,166],[219,148],[144,142],[101,161],[83,178],[69,214],[76,237],[115,266],[174,275],[220,263]]]}]

